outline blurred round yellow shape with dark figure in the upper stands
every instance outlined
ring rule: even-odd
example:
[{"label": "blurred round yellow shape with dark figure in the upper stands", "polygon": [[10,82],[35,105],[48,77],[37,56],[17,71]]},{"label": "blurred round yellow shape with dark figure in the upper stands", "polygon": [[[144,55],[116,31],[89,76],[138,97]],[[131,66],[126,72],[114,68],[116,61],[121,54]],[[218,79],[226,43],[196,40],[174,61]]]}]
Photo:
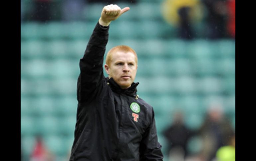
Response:
[{"label": "blurred round yellow shape with dark figure in the upper stands", "polygon": [[202,18],[200,0],[166,0],[163,3],[163,16],[168,23],[177,27],[180,38],[193,39],[193,23]]}]

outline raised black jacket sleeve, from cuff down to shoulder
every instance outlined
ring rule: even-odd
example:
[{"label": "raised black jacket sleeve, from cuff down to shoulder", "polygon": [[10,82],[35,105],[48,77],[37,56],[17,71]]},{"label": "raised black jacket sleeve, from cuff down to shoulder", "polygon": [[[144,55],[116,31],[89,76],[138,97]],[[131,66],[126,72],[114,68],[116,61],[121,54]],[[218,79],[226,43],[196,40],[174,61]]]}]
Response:
[{"label": "raised black jacket sleeve, from cuff down to shoulder", "polygon": [[103,59],[108,41],[109,27],[96,24],[83,57],[80,59],[80,75],[77,81],[77,100],[89,101],[103,83]]}]

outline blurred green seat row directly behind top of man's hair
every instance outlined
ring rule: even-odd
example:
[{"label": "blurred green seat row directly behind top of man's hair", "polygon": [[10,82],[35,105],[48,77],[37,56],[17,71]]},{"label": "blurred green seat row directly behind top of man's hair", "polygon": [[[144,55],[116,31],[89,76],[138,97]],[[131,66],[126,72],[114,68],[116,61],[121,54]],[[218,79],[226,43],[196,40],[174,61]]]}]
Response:
[{"label": "blurred green seat row directly behind top of man's hair", "polygon": [[[73,57],[81,58],[88,39],[83,40],[26,40],[21,41],[21,58]],[[179,39],[110,39],[106,51],[117,45],[132,47],[139,57],[170,57],[170,58],[235,58],[234,40],[193,40]]]}]

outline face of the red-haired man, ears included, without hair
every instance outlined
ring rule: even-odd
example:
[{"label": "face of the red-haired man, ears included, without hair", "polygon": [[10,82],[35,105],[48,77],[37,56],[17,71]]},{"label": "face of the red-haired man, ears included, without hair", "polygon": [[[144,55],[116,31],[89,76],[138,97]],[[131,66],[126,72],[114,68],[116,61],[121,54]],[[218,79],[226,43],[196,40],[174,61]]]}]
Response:
[{"label": "face of the red-haired man, ears included, without hair", "polygon": [[131,86],[135,79],[137,68],[134,53],[122,51],[113,53],[112,61],[109,65],[105,65],[109,78],[112,77],[122,89],[127,89]]}]

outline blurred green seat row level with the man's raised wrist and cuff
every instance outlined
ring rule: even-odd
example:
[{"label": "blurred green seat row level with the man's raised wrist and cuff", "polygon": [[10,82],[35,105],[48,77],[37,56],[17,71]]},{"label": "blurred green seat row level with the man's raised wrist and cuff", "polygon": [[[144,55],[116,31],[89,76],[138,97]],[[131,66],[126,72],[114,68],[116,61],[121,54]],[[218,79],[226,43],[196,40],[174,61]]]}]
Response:
[{"label": "blurred green seat row level with the man's raised wrist and cuff", "polygon": [[[21,40],[89,39],[97,21],[21,24]],[[199,31],[200,32],[200,31]],[[161,20],[117,20],[109,28],[110,39],[175,39],[178,28]],[[196,37],[200,38],[200,37]]]}]

